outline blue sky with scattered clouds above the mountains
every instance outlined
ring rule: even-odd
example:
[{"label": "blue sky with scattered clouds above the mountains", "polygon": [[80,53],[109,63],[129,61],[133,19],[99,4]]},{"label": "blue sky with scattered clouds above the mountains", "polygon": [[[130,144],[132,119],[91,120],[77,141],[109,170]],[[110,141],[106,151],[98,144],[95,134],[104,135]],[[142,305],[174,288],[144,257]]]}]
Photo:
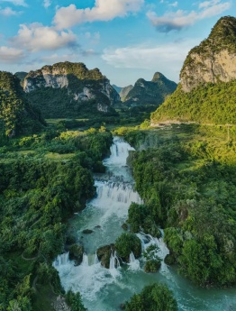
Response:
[{"label": "blue sky with scattered clouds above the mountains", "polygon": [[187,52],[235,0],[0,0],[0,70],[69,60],[125,87],[156,71],[178,82]]}]

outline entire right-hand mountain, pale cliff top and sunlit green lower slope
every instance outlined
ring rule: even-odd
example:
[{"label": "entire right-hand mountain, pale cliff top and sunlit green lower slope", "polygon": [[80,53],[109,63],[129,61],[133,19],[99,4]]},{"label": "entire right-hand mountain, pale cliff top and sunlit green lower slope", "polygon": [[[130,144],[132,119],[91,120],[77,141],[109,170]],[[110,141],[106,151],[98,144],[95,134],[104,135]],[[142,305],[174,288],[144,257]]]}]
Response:
[{"label": "entire right-hand mountain, pale cliff top and sunlit green lower slope", "polygon": [[209,37],[190,50],[176,92],[151,123],[236,123],[236,18],[222,17]]}]

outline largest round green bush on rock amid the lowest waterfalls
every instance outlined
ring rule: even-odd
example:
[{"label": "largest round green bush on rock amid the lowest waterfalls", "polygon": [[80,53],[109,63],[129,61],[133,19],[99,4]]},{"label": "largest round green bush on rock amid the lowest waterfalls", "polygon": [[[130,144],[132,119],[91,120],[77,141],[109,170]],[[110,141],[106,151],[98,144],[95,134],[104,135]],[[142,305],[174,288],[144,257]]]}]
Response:
[{"label": "largest round green bush on rock amid the lowest waterfalls", "polygon": [[115,241],[115,249],[124,261],[129,262],[131,252],[135,258],[141,256],[141,240],[133,233],[122,233]]}]

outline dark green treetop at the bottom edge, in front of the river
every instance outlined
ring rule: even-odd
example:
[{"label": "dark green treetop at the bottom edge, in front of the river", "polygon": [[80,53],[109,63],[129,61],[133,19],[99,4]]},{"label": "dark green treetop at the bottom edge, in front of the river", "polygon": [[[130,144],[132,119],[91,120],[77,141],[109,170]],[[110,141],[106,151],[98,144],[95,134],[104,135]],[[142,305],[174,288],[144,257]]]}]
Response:
[{"label": "dark green treetop at the bottom edge, in front of the river", "polygon": [[177,311],[177,301],[173,293],[162,284],[153,284],[135,294],[125,304],[125,311]]}]

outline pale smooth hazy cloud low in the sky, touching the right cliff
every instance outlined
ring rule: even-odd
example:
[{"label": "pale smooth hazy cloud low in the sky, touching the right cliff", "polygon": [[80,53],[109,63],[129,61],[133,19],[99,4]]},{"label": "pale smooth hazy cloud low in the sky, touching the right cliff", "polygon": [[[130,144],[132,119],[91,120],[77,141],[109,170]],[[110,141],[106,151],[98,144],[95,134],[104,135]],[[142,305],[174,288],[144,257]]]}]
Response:
[{"label": "pale smooth hazy cloud low in the sky, touching the right cliff", "polygon": [[105,49],[102,59],[114,68],[150,69],[175,76],[178,80],[186,55],[200,40],[177,41],[162,45],[135,45]]}]

